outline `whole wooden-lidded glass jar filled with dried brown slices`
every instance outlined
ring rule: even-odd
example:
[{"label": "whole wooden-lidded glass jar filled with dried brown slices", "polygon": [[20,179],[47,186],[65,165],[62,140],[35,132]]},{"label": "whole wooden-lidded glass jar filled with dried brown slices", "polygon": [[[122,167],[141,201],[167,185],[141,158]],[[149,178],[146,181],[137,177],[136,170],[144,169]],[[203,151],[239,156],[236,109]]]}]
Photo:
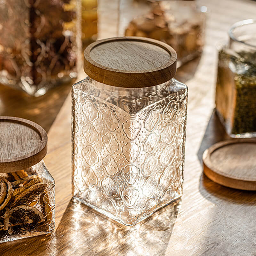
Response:
[{"label": "whole wooden-lidded glass jar filled with dried brown slices", "polygon": [[41,126],[0,116],[0,243],[54,230],[55,182],[46,152]]}]

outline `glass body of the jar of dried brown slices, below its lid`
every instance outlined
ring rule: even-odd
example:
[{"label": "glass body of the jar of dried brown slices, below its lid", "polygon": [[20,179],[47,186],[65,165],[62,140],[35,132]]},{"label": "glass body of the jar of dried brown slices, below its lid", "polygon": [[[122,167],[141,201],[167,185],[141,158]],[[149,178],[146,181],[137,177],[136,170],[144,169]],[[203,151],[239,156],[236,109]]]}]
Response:
[{"label": "glass body of the jar of dried brown slices, below its lid", "polygon": [[0,173],[0,243],[50,233],[55,227],[55,182],[44,161]]}]

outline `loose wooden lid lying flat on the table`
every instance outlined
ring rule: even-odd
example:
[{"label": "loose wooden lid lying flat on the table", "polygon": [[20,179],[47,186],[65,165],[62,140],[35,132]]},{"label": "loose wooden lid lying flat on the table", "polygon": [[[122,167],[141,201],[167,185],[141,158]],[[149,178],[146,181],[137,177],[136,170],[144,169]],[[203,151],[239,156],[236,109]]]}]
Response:
[{"label": "loose wooden lid lying flat on the table", "polygon": [[203,154],[204,174],[216,183],[256,190],[256,139],[221,141]]}]

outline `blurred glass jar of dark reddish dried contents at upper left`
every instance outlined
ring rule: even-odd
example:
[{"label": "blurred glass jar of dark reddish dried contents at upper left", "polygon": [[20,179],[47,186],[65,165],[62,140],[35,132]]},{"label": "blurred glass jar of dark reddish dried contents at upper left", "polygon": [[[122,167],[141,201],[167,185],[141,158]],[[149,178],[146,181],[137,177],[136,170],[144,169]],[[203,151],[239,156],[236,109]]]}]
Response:
[{"label": "blurred glass jar of dark reddish dried contents at upper left", "polygon": [[76,76],[76,1],[0,3],[0,83],[43,95]]}]

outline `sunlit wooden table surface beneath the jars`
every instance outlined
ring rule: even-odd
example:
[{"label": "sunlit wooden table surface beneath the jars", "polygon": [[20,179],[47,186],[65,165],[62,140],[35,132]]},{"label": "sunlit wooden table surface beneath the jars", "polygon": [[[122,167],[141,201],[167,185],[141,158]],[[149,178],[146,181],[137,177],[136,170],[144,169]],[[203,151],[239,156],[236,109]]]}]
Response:
[{"label": "sunlit wooden table surface beneath the jars", "polygon": [[[116,36],[117,2],[99,0],[99,38]],[[18,104],[17,99],[21,96],[17,92],[13,92],[16,95],[16,100],[13,100],[12,92],[0,88],[1,114],[24,116],[49,130],[45,163],[56,181],[55,232],[0,244],[1,256],[256,255],[256,193],[222,187],[202,172],[204,150],[217,141],[228,139],[213,111],[215,46],[218,41],[227,39],[226,31],[231,24],[255,17],[256,2],[198,2],[210,9],[204,52],[200,59],[180,68],[176,76],[189,88],[181,200],[131,228],[116,224],[73,201],[70,88],[46,94],[48,96],[43,97],[50,102],[43,104],[45,101],[39,99],[41,105],[38,103],[38,106],[33,100],[33,104],[28,100],[21,100],[22,103]],[[11,107],[9,102],[13,102]],[[23,105],[23,102],[27,103]],[[21,108],[18,111],[17,106]]]}]

